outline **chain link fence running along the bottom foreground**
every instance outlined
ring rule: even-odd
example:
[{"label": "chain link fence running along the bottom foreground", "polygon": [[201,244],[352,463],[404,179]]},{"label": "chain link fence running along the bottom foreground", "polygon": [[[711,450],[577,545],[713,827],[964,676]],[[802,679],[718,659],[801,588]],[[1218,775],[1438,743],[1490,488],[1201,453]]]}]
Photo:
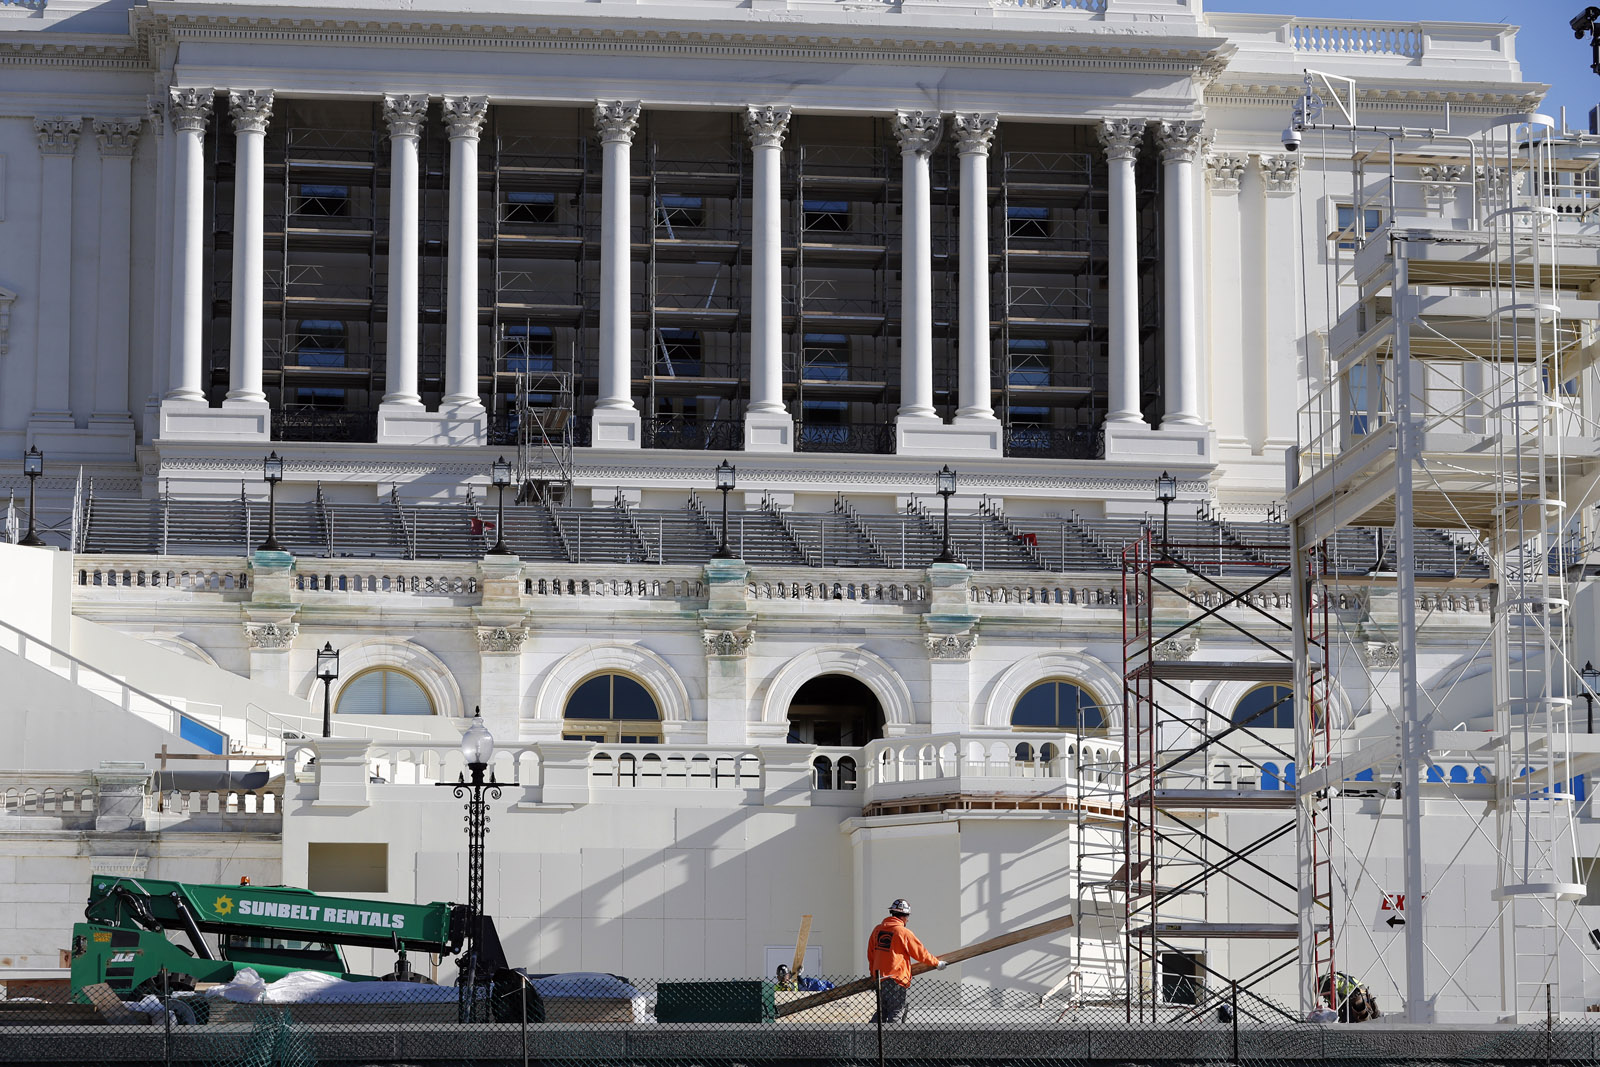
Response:
[{"label": "chain link fence running along the bottom foreground", "polygon": [[[456,987],[234,985],[120,1000],[13,984],[0,1064],[314,1067],[1600,1067],[1600,1014],[1518,1025],[1310,1024],[1229,990],[1138,1005],[914,981],[904,1005],[869,979],[629,981],[502,971]],[[856,992],[851,992],[856,990]],[[144,990],[141,990],[144,993]],[[842,995],[843,993],[843,995]],[[254,1000],[230,997],[254,995]],[[880,1011],[882,1005],[882,1011]],[[1237,1008],[1235,1008],[1237,1005]]]}]

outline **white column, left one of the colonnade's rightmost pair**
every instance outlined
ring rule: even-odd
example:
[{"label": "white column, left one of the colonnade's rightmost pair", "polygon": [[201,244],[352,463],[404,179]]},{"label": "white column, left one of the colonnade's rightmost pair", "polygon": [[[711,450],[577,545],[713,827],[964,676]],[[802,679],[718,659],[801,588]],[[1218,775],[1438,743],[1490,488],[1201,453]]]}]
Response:
[{"label": "white column, left one of the colonnade's rightmost pair", "polygon": [[1139,414],[1139,219],[1133,165],[1144,123],[1110,118],[1099,126],[1109,170],[1110,277],[1107,296],[1107,422],[1141,422]]}]

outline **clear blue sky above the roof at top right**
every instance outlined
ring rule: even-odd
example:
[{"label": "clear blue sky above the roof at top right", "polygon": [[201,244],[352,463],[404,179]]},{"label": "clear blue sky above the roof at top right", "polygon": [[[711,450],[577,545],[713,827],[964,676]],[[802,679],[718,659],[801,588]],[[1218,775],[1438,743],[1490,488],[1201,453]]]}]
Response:
[{"label": "clear blue sky above the roof at top right", "polygon": [[[1600,3],[1600,0],[1595,0]],[[1587,6],[1586,0],[1205,0],[1206,11],[1259,11],[1266,14],[1307,14],[1339,19],[1392,19],[1421,22],[1514,22],[1517,62],[1528,82],[1550,86],[1544,110],[1558,117],[1566,106],[1566,125],[1582,130],[1589,109],[1600,104],[1600,75],[1589,69],[1589,38],[1574,40],[1568,21]]]}]

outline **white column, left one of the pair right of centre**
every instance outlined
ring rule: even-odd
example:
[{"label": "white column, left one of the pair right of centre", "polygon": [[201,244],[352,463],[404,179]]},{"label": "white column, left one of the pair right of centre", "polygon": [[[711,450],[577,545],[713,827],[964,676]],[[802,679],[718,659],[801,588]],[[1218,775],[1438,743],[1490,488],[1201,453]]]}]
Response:
[{"label": "white column, left one of the pair right of centre", "polygon": [[928,157],[939,144],[938,114],[894,115],[901,146],[901,418],[933,418],[933,210]]}]

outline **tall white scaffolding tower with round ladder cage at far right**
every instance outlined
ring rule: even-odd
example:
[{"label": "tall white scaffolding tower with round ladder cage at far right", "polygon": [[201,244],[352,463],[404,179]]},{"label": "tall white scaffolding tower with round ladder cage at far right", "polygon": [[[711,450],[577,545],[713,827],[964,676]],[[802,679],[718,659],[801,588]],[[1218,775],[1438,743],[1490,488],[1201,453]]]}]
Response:
[{"label": "tall white scaffolding tower with round ladder cage at far right", "polygon": [[[1334,122],[1320,122],[1325,109],[1338,110]],[[1566,553],[1595,483],[1584,408],[1600,280],[1584,178],[1594,160],[1542,115],[1498,120],[1472,138],[1358,126],[1354,83],[1315,74],[1296,120],[1325,131],[1307,133],[1307,150],[1347,139],[1354,184],[1326,237],[1338,320],[1307,371],[1314,389],[1291,467],[1294,587],[1302,600],[1317,587],[1314,563],[1354,526],[1390,528],[1392,550],[1381,545],[1363,573],[1333,568],[1323,630],[1296,630],[1296,678],[1331,669],[1338,681],[1320,693],[1296,686],[1299,817],[1306,827],[1330,798],[1341,813],[1397,806],[1390,859],[1402,875],[1395,901],[1370,845],[1347,840],[1339,817],[1302,833],[1302,880],[1333,883],[1339,933],[1326,944],[1307,934],[1323,904],[1302,894],[1302,1005],[1317,1000],[1318,974],[1338,953],[1374,982],[1387,973],[1414,1022],[1438,1019],[1445,1001],[1506,1019],[1581,1009],[1573,979],[1595,966],[1573,907],[1586,893],[1574,821],[1578,779],[1600,749],[1568,725],[1571,662],[1584,654],[1571,648]],[[1490,574],[1421,577],[1418,526],[1477,545]],[[1424,688],[1426,605],[1470,585],[1488,587],[1490,637]],[[1490,675],[1493,712],[1461,713],[1458,725],[1454,693],[1475,670]],[[1461,816],[1472,840],[1454,854],[1443,825],[1424,840],[1424,801]],[[1430,936],[1429,897],[1485,845],[1488,921],[1470,928],[1469,888],[1448,934]],[[1392,910],[1387,934],[1355,915],[1374,885]],[[1491,1005],[1462,974],[1493,973],[1494,958]]]}]

